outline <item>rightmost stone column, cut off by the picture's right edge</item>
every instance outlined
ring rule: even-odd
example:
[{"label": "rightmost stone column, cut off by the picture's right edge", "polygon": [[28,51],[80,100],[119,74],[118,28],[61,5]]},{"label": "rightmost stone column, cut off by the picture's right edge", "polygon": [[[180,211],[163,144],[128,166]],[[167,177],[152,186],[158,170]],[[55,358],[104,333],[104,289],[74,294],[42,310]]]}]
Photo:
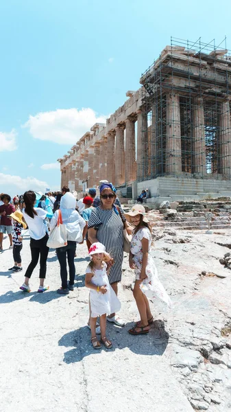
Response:
[{"label": "rightmost stone column, cut off by the picture's right edge", "polygon": [[219,119],[219,173],[230,176],[231,172],[231,124],[230,103],[228,100],[221,103]]}]

